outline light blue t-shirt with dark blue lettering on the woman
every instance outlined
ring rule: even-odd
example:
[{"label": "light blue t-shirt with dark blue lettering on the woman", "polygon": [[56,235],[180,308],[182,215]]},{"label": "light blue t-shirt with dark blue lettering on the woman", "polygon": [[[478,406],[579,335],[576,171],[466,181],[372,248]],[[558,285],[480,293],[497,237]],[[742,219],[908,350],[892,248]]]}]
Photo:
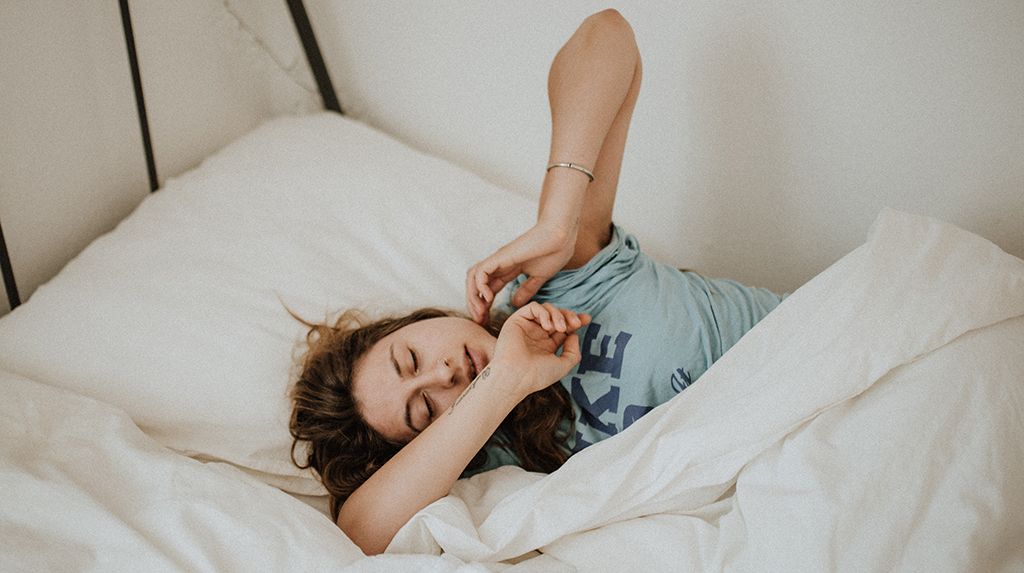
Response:
[{"label": "light blue t-shirt with dark blue lettering on the woman", "polygon": [[[575,453],[693,384],[782,297],[657,263],[613,225],[604,249],[583,267],[553,276],[534,300],[592,317],[579,332],[583,357],[560,381],[572,399]],[[504,447],[489,443],[486,451],[486,465],[464,477],[519,465]]]}]

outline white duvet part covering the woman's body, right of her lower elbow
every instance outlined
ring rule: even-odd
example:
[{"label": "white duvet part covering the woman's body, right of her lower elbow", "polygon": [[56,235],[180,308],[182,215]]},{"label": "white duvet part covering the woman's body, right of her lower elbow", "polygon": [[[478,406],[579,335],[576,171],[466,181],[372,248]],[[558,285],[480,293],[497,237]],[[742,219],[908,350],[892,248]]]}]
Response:
[{"label": "white duvet part covering the woman's body, right of her lower elbow", "polygon": [[459,484],[389,550],[543,547],[601,571],[1024,570],[1022,314],[1024,262],[886,212],[679,397],[550,476]]}]

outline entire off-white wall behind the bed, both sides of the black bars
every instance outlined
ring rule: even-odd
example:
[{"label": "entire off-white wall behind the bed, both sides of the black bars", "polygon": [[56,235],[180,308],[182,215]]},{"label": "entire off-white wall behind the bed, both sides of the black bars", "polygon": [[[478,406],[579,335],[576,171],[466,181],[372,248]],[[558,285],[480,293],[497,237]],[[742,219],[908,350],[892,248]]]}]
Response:
[{"label": "entire off-white wall behind the bed, both sides of the black bars", "polygon": [[[536,194],[548,65],[609,4],[307,5],[349,115]],[[162,180],[318,107],[283,1],[131,6]],[[610,6],[645,65],[616,219],[655,256],[787,291],[888,205],[1024,257],[1024,2]],[[0,221],[23,299],[145,195],[130,82],[116,2],[0,0]]]}]

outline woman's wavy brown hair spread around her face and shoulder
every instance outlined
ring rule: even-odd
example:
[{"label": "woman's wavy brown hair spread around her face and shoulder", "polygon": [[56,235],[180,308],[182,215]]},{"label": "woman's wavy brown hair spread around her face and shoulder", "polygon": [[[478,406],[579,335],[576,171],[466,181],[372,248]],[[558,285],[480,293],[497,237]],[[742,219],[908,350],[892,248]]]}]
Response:
[{"label": "woman's wavy brown hair spread around her face and shoulder", "polygon": [[[465,315],[445,309],[424,308],[403,316],[369,320],[355,310],[343,313],[334,324],[312,323],[308,350],[292,388],[292,461],[312,468],[331,495],[331,516],[338,520],[341,504],[388,459],[401,443],[388,440],[367,424],[352,397],[355,365],[374,344],[399,328],[444,316]],[[496,315],[484,327],[497,337],[506,316]],[[563,421],[568,421],[566,428]],[[568,458],[568,437],[573,433],[572,405],[560,384],[535,392],[505,417],[488,444],[508,448],[524,470],[554,472]],[[300,442],[306,444],[305,460],[296,457]],[[487,453],[481,449],[467,470],[482,467]]]}]

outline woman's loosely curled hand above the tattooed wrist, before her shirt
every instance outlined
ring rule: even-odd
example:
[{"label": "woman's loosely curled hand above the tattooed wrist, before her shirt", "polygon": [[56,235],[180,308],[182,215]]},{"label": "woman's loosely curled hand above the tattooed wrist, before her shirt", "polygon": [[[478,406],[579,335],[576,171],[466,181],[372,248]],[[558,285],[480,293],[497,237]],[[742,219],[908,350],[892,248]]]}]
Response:
[{"label": "woman's loosely curled hand above the tattooed wrist, before her shirt", "polygon": [[[575,332],[589,323],[589,314],[531,302],[505,321],[492,363],[521,372],[518,390],[526,397],[561,380],[580,362]],[[555,353],[559,348],[561,355]]]}]

